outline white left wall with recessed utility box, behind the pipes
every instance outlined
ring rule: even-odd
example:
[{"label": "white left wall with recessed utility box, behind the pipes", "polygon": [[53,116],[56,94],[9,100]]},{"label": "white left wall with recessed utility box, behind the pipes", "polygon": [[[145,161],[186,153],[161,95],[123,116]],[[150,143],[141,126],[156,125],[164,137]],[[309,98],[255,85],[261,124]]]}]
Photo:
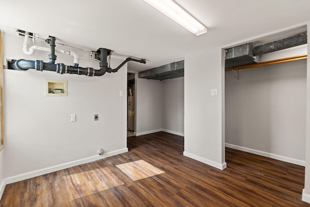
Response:
[{"label": "white left wall with recessed utility box, behind the pipes", "polygon": [[[4,60],[48,62],[48,52],[36,51],[32,56],[23,54],[21,36],[4,34],[3,41]],[[56,63],[73,64],[72,57],[57,56]],[[112,59],[111,67],[122,61]],[[79,65],[99,68],[98,62],[86,60],[80,60]],[[45,79],[67,80],[68,96],[44,96]],[[119,96],[119,91],[126,92],[126,81],[126,65],[119,72],[102,77],[5,69],[4,177],[127,151],[126,96]],[[99,121],[93,120],[95,113],[99,114]],[[70,114],[77,114],[76,122],[70,122]],[[98,148],[105,150],[104,156],[97,155]]]}]

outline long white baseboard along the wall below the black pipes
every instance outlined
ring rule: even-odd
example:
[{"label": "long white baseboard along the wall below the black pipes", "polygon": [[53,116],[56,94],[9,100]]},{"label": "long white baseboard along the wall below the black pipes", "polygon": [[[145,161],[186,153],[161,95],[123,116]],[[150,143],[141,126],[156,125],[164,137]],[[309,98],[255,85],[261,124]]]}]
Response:
[{"label": "long white baseboard along the wall below the black pipes", "polygon": [[58,171],[58,170],[63,170],[63,169],[69,168],[69,167],[77,166],[77,165],[80,165],[80,164],[85,164],[85,163],[88,163],[88,162],[93,162],[93,161],[96,161],[98,159],[104,159],[104,158],[107,158],[107,157],[110,157],[110,156],[113,156],[113,155],[118,155],[118,154],[121,154],[121,153],[124,153],[124,152],[128,152],[128,148],[127,147],[124,148],[124,149],[119,149],[119,150],[115,150],[115,151],[112,151],[112,152],[105,153],[102,156],[96,155],[96,156],[89,157],[89,158],[78,159],[78,160],[71,161],[71,162],[66,162],[66,163],[63,163],[63,164],[60,164],[60,165],[55,165],[55,166],[52,166],[52,167],[47,167],[47,168],[44,168],[44,169],[35,170],[35,171],[28,172],[28,173],[24,173],[24,174],[20,174],[20,175],[15,175],[15,176],[12,176],[12,177],[7,177],[7,178],[4,179],[4,182],[5,182],[5,184],[10,184],[10,183],[18,182],[18,181],[21,181],[21,180],[29,179],[31,177],[35,177],[35,176],[39,176],[39,175],[45,175],[47,173],[52,173],[52,172],[55,172],[55,171]]}]

